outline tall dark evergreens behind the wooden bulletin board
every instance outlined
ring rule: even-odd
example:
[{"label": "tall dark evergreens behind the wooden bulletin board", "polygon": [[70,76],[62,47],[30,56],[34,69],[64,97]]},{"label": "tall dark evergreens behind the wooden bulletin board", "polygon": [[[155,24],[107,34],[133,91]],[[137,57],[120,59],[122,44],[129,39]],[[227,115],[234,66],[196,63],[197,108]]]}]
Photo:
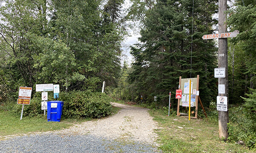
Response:
[{"label": "tall dark evergreens behind the wooden bulletin board", "polygon": [[169,91],[174,94],[178,88],[179,76],[190,78],[191,73],[191,77],[200,75],[200,96],[209,104],[212,95],[216,95],[213,70],[217,50],[212,40],[201,37],[213,32],[216,20],[212,15],[217,8],[216,0],[195,1],[194,8],[190,0],[158,0],[154,9],[148,10],[145,28],[140,31],[141,43],[131,51],[135,62],[130,80],[137,84],[137,91],[151,99],[157,95],[163,104]]}]

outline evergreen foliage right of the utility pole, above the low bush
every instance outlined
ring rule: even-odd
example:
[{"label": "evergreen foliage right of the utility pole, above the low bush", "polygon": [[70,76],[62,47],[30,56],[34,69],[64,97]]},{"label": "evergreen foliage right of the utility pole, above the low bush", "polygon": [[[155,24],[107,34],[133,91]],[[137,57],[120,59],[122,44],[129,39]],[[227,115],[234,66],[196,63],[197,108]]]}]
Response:
[{"label": "evergreen foliage right of the utility pole, above the low bush", "polygon": [[240,96],[256,83],[256,1],[236,0],[234,5],[229,10],[228,25],[240,34],[230,39],[229,91],[233,104],[242,102]]}]

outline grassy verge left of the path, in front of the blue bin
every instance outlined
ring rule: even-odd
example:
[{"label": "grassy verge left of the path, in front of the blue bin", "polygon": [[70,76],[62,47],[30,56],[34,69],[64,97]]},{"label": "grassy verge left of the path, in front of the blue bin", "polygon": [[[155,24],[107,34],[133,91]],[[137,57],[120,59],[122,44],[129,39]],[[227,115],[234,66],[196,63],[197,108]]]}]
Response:
[{"label": "grassy verge left of the path, in front of the blue bin", "polygon": [[[112,114],[116,114],[120,109],[113,107]],[[47,116],[41,118],[23,116],[20,120],[19,115],[14,115],[10,111],[0,111],[0,140],[10,135],[62,130],[88,120],[91,119],[61,119],[61,122],[47,122]]]}]

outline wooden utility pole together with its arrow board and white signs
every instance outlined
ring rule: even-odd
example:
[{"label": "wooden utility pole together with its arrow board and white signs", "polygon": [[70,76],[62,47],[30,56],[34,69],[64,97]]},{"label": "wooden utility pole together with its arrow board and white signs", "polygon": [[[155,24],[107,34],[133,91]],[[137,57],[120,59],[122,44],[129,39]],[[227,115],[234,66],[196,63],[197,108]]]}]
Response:
[{"label": "wooden utility pole together with its arrow board and white signs", "polygon": [[[207,39],[218,39],[218,73],[215,74],[215,77],[218,78],[218,96],[217,103],[227,102],[225,106],[228,108],[228,75],[227,75],[227,38],[236,37],[239,34],[238,30],[234,32],[227,33],[227,0],[218,0],[218,29],[219,34],[206,34],[202,38]],[[222,71],[219,71],[222,70]],[[222,97],[220,100],[219,98]],[[220,105],[219,105],[220,106]],[[221,106],[222,107],[222,106]],[[219,125],[219,137],[227,140],[227,123],[228,123],[228,109],[218,108],[218,125]],[[220,111],[222,110],[222,111]]]}]

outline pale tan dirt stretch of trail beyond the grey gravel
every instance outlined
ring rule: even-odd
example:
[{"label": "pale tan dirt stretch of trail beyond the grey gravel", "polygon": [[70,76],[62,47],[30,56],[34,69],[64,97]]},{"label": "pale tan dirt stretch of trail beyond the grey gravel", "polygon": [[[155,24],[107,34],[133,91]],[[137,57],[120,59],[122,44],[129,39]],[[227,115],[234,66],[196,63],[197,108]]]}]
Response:
[{"label": "pale tan dirt stretch of trail beyond the grey gravel", "polygon": [[93,134],[107,139],[140,141],[157,145],[157,122],[149,116],[147,108],[112,103],[122,108],[118,113],[104,119],[83,122],[56,133],[62,134]]}]

